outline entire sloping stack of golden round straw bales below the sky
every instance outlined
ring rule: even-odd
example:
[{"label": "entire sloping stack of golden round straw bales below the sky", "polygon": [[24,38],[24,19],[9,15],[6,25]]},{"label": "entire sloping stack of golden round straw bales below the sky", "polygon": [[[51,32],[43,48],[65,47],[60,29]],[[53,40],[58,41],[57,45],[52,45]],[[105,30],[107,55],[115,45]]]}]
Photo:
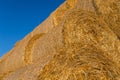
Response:
[{"label": "entire sloping stack of golden round straw bales below the sky", "polygon": [[120,0],[66,0],[0,59],[0,80],[120,80]]}]

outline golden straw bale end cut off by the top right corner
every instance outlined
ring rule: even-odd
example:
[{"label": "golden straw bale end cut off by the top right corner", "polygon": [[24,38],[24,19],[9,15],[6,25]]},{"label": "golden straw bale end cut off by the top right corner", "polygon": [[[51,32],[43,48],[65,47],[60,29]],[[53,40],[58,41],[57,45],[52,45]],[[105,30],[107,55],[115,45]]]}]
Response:
[{"label": "golden straw bale end cut off by the top right corner", "polygon": [[94,0],[98,13],[120,38],[120,0]]}]

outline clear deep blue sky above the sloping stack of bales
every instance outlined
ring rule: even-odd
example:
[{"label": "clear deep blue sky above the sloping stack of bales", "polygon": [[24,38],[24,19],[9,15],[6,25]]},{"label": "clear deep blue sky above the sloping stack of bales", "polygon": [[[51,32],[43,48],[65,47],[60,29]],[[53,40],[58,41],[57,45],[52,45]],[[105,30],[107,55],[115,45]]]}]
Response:
[{"label": "clear deep blue sky above the sloping stack of bales", "polygon": [[65,0],[0,0],[0,57]]}]

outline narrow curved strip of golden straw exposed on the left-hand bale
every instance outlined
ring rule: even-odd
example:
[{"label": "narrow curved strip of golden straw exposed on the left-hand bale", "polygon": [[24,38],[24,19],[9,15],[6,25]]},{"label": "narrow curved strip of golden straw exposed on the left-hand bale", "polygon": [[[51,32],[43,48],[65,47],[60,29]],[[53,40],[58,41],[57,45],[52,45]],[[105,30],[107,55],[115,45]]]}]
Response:
[{"label": "narrow curved strip of golden straw exposed on the left-hand bale", "polygon": [[34,46],[34,43],[43,35],[44,33],[36,34],[29,40],[28,44],[26,45],[24,54],[24,61],[26,64],[32,63],[32,48]]}]

